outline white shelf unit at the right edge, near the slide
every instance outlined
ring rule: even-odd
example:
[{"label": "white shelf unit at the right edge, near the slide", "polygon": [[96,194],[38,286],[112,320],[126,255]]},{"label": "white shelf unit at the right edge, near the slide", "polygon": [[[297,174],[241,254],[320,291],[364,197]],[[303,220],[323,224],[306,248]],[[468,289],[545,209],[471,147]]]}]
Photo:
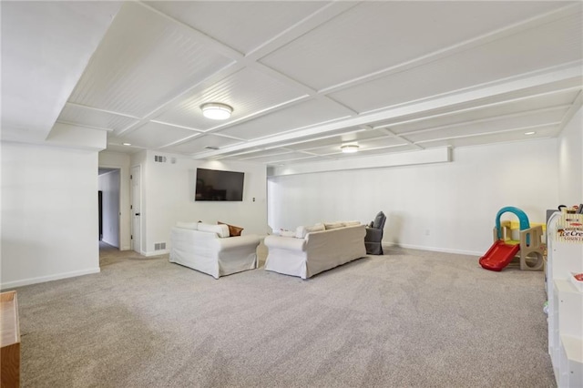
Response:
[{"label": "white shelf unit at the right edge, near the slide", "polygon": [[569,281],[583,272],[583,243],[557,240],[561,213],[547,224],[548,353],[559,388],[583,387],[583,292]]}]

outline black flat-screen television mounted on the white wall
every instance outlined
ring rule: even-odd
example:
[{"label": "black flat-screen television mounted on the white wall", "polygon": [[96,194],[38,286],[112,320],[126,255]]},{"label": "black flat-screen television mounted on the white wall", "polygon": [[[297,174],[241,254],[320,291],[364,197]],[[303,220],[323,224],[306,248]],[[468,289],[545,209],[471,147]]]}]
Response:
[{"label": "black flat-screen television mounted on the white wall", "polygon": [[244,178],[243,172],[197,168],[194,200],[243,200]]}]

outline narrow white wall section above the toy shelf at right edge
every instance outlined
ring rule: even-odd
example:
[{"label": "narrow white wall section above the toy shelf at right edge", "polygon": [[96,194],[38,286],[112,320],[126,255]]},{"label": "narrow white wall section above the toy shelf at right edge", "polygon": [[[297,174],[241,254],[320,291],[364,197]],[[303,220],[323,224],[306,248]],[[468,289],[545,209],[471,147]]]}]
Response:
[{"label": "narrow white wall section above the toy shelf at right edge", "polygon": [[583,108],[571,118],[558,138],[558,201],[583,203]]}]

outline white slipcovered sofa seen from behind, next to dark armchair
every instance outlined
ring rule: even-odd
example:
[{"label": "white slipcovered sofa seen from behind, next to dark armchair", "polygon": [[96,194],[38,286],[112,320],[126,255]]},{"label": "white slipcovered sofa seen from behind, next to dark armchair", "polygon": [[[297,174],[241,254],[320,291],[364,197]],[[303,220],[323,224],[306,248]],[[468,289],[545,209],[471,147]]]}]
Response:
[{"label": "white slipcovered sofa seen from behind, next to dark armchair", "polygon": [[265,270],[311,278],[366,256],[365,234],[365,225],[360,222],[337,222],[298,227],[293,237],[267,236],[264,244],[269,251]]}]

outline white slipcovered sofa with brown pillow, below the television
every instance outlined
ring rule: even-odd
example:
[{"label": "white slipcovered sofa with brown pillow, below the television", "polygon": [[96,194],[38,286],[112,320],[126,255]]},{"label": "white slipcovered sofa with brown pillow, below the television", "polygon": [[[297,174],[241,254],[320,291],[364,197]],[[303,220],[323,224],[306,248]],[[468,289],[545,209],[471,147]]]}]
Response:
[{"label": "white slipcovered sofa with brown pillow, below the television", "polygon": [[257,268],[257,235],[229,237],[227,225],[179,222],[170,231],[170,262],[215,279]]}]

